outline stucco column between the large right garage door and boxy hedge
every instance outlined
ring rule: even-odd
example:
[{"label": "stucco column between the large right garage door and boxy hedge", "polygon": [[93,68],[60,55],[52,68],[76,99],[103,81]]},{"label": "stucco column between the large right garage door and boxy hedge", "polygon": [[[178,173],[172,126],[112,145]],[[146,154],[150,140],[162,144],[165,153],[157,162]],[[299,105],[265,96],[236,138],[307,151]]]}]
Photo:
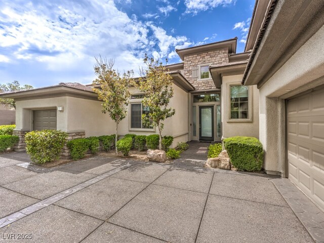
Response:
[{"label": "stucco column between the large right garage door and boxy hedge", "polygon": [[260,90],[259,139],[267,174],[285,176],[285,100],[268,98]]}]

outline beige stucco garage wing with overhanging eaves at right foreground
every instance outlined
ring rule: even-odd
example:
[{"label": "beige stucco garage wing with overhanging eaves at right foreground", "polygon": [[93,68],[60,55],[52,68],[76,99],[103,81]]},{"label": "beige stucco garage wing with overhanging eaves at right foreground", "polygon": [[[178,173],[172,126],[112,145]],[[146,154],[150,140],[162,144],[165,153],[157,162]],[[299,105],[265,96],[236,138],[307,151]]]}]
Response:
[{"label": "beige stucco garage wing with overhanging eaves at right foreground", "polygon": [[245,50],[264,168],[324,209],[324,1],[257,1]]}]

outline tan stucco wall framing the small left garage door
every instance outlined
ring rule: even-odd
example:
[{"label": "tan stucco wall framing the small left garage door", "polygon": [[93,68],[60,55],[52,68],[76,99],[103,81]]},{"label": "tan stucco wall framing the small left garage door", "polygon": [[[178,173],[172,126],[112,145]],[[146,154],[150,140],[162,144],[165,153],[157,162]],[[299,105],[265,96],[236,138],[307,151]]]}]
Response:
[{"label": "tan stucco wall framing the small left garage door", "polygon": [[[36,109],[66,107],[67,97],[24,100],[16,102],[16,129],[33,130],[33,112]],[[57,130],[67,131],[67,112],[57,112]]]}]

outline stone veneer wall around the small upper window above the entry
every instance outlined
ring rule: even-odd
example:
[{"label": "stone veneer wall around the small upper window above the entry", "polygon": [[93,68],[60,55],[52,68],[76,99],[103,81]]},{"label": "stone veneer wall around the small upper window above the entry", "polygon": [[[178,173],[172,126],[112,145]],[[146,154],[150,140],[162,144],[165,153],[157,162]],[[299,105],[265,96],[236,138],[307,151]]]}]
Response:
[{"label": "stone veneer wall around the small upper window above the entry", "polygon": [[[200,64],[211,63],[211,65],[228,63],[228,49],[211,51],[184,57],[184,76],[196,90],[216,89],[212,79],[198,80],[192,78],[192,68]],[[199,74],[198,74],[199,75]]]}]

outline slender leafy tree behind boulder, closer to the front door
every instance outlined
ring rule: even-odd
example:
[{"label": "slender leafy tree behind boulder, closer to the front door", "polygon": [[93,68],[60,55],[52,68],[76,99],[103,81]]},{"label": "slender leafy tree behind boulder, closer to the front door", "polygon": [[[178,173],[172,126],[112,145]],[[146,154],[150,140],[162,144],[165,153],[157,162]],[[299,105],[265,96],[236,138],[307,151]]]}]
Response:
[{"label": "slender leafy tree behind boulder, closer to the front door", "polygon": [[175,109],[168,108],[170,99],[173,97],[172,77],[161,62],[154,60],[154,58],[148,58],[146,54],[144,64],[146,68],[140,70],[143,78],[140,78],[136,85],[145,94],[142,103],[149,109],[149,115],[143,114],[142,120],[145,123],[152,123],[153,127],[157,127],[158,148],[161,150],[161,133],[164,128],[162,121],[175,114]]}]

